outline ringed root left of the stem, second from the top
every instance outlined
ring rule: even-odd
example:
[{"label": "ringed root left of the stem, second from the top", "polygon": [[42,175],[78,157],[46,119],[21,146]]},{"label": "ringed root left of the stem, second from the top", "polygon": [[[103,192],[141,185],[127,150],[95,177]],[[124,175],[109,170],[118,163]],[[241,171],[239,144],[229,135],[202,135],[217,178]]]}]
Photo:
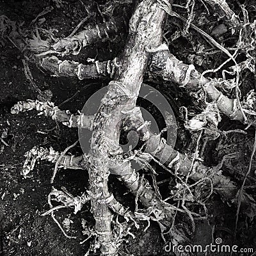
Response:
[{"label": "ringed root left of the stem, second from the top", "polygon": [[95,61],[93,64],[83,65],[75,61],[61,61],[55,56],[42,58],[40,66],[56,76],[78,77],[78,79],[113,77],[115,64],[113,61]]}]

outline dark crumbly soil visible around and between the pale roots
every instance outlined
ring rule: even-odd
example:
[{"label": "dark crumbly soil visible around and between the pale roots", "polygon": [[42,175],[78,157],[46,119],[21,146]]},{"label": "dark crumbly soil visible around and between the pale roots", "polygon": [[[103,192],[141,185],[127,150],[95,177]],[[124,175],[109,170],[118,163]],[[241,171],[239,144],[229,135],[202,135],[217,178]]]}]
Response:
[{"label": "dark crumbly soil visible around and between the pale roots", "polygon": [[[43,8],[49,5],[54,6],[49,0],[1,1],[0,15],[4,14],[18,23],[24,21],[28,25]],[[97,13],[97,10],[95,12]],[[46,20],[42,27],[56,28],[58,29],[57,36],[67,36],[84,16],[84,9],[80,1],[70,0],[61,8],[54,6],[54,10],[44,16]],[[88,24],[93,25],[95,22],[102,22],[99,13],[88,20]],[[10,113],[10,108],[17,101],[36,99],[36,92],[24,76],[21,52],[8,40],[2,40],[1,38],[0,40],[2,44],[0,44],[0,135],[8,129],[8,136],[4,141],[9,145],[8,147],[4,146],[3,152],[0,154],[0,255],[84,255],[89,248],[89,243],[79,244],[84,239],[81,221],[84,219],[93,226],[90,205],[84,205],[82,211],[76,215],[72,212],[72,209],[61,209],[56,212],[56,218],[60,223],[65,218],[73,221],[67,233],[70,236],[77,236],[77,239],[68,239],[63,236],[51,216],[41,216],[42,213],[49,210],[47,195],[52,188],[50,179],[54,164],[36,164],[32,173],[33,177],[28,179],[24,179],[20,175],[26,151],[34,145],[42,145],[47,148],[51,146],[55,150],[64,150],[77,140],[77,130],[58,125],[44,116],[37,116],[35,111],[19,115]],[[111,59],[122,49],[124,42],[125,38],[123,40],[116,38],[111,43],[97,44],[83,51],[83,54],[79,57],[74,56],[73,60],[83,62],[83,60],[95,58],[95,56],[97,56],[97,60]],[[177,51],[177,54],[182,56],[182,51],[177,49],[173,49],[173,51]],[[40,90],[50,89],[52,91],[52,102],[56,106],[81,90],[76,98],[61,106],[61,109],[69,109],[73,113],[77,109],[83,108],[86,99],[97,88],[108,83],[106,79],[102,79],[97,81],[98,86],[95,88],[95,81],[52,77],[33,65],[29,65],[29,67]],[[86,84],[88,86],[84,89]],[[253,87],[253,84],[248,86]],[[165,92],[166,87],[163,88],[163,93]],[[173,95],[171,95],[173,98],[175,93],[179,94],[180,92],[173,90]],[[232,126],[232,129],[244,128],[243,125],[235,122],[231,124],[229,120],[225,119],[221,124],[225,130],[231,129]],[[38,131],[45,132],[45,134],[38,133]],[[209,147],[207,146],[205,149],[205,161],[209,165],[220,163],[221,158],[226,154],[237,153],[235,159],[225,162],[223,172],[232,176],[239,186],[244,173],[248,169],[253,146],[253,129],[249,129],[247,132],[246,135],[231,134],[225,140],[209,142]],[[185,137],[182,138],[190,140],[188,134],[185,134]],[[181,139],[178,138],[179,140]],[[181,141],[179,143],[181,150],[186,151],[187,142]],[[81,154],[81,148],[73,148],[72,153]],[[248,178],[247,185],[255,184],[255,162],[253,162],[252,170],[253,173]],[[54,188],[60,189],[61,186],[65,186],[73,195],[81,195],[88,186],[87,180],[86,171],[59,170]],[[132,196],[125,195],[124,197],[123,194],[126,190],[121,185],[116,185],[115,179],[109,183],[118,200],[128,202],[128,205],[133,204]],[[255,195],[253,187],[250,192]],[[191,234],[193,242],[195,244],[209,244],[212,239],[221,237],[223,244],[231,244],[236,222],[236,207],[228,206],[217,195],[212,195],[211,200],[207,201],[206,205],[209,211],[209,222],[196,221],[196,232]],[[147,223],[145,223],[144,228],[146,225]],[[187,223],[181,222],[180,225],[187,225],[189,232],[190,227]],[[164,241],[156,223],[152,223],[146,232],[143,232],[142,226],[140,230],[133,230],[136,238],[128,237],[129,243],[123,246],[121,255],[171,255],[164,252]],[[242,248],[253,248],[253,252],[256,252],[255,228],[255,221],[247,218],[242,212],[237,227],[236,241],[233,241],[233,244]],[[250,255],[250,253],[244,253],[243,255]]]}]

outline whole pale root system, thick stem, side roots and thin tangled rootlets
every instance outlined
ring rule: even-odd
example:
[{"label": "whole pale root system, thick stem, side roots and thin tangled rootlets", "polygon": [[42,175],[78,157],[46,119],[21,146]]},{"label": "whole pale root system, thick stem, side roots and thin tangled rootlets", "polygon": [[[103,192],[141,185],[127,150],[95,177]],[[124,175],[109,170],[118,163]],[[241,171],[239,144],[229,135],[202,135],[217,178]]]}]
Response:
[{"label": "whole pale root system, thick stem, side roots and thin tangled rootlets", "polygon": [[[219,3],[218,0],[207,0],[207,2]],[[84,204],[90,201],[91,211],[95,219],[95,227],[90,229],[88,237],[84,241],[95,236],[95,243],[92,244],[91,250],[95,252],[100,248],[102,255],[116,255],[125,236],[135,237],[131,232],[131,225],[139,228],[140,225],[138,222],[141,220],[147,221],[148,223],[145,229],[149,227],[150,220],[157,221],[163,240],[165,241],[168,235],[171,237],[174,246],[179,245],[186,241],[186,236],[182,230],[177,230],[175,227],[177,212],[188,215],[194,231],[195,218],[203,219],[208,216],[204,203],[213,192],[219,193],[223,200],[237,204],[237,220],[241,205],[249,207],[253,212],[256,212],[256,207],[251,196],[243,191],[244,183],[239,190],[229,177],[222,175],[220,170],[221,164],[212,168],[207,167],[202,163],[202,159],[200,159],[198,154],[199,142],[202,136],[208,139],[212,134],[216,138],[219,136],[217,127],[218,122],[220,122],[220,113],[243,123],[248,123],[247,116],[244,113],[252,116],[255,115],[253,109],[256,100],[254,99],[255,95],[253,93],[249,94],[247,99],[242,103],[239,101],[239,65],[237,65],[234,59],[235,54],[234,56],[230,55],[227,49],[191,23],[195,1],[188,0],[186,9],[188,10],[189,18],[185,20],[186,26],[184,33],[188,33],[189,28],[196,29],[196,31],[210,40],[212,44],[225,52],[230,60],[233,60],[235,63],[234,71],[237,74],[236,84],[233,81],[207,79],[204,77],[204,74],[220,70],[224,63],[215,70],[207,70],[203,74],[200,74],[195,70],[193,65],[186,65],[182,61],[177,60],[175,56],[170,54],[168,47],[162,43],[166,13],[184,20],[177,13],[172,12],[172,6],[169,1],[143,0],[138,4],[137,1],[134,1],[134,4],[136,5],[136,9],[129,22],[129,36],[122,54],[113,61],[93,61],[90,65],[83,65],[68,60],[62,61],[55,56],[49,57],[48,54],[79,54],[83,47],[95,42],[108,40],[111,35],[120,33],[126,27],[126,17],[120,18],[119,20],[111,19],[109,22],[96,25],[94,28],[88,27],[86,30],[74,35],[79,26],[85,21],[84,19],[70,36],[60,39],[52,46],[49,45],[49,40],[41,40],[38,32],[33,40],[27,40],[28,44],[26,45],[10,20],[7,20],[5,17],[1,18],[2,21],[0,20],[4,24],[3,33],[11,30],[8,38],[15,47],[20,49],[29,60],[35,61],[38,66],[52,72],[54,76],[78,77],[78,79],[109,76],[113,79],[109,83],[108,92],[102,98],[100,108],[93,116],[84,116],[80,112],[73,115],[69,111],[61,111],[52,102],[42,102],[39,100],[18,102],[12,108],[13,114],[36,109],[36,111],[40,112],[39,115],[44,114],[52,118],[52,120],[57,120],[64,125],[68,125],[68,127],[81,127],[92,130],[91,151],[89,155],[84,154],[78,157],[67,155],[67,151],[71,147],[74,147],[77,141],[63,152],[56,152],[52,148],[47,150],[42,147],[34,147],[29,152],[26,152],[26,161],[22,169],[22,175],[28,177],[28,173],[35,168],[36,161],[39,159],[55,163],[51,183],[54,181],[56,172],[60,167],[87,169],[90,184],[88,191],[81,196],[75,197],[68,193],[65,188],[62,189],[63,191],[53,188],[48,197],[51,209],[42,215],[51,214],[53,220],[66,237],[76,238],[70,237],[65,233],[58,220],[54,217],[54,211],[74,207],[74,214],[76,214]],[[222,6],[224,10],[220,8],[220,13],[224,12],[225,19],[227,19],[230,13],[228,6],[225,4],[224,1],[224,7]],[[100,10],[99,13],[104,19]],[[246,16],[245,10],[244,15]],[[232,14],[230,20],[227,20],[227,22],[235,22],[236,19],[233,20],[233,17],[235,16]],[[7,22],[7,24],[4,22]],[[236,24],[232,26],[232,28],[235,27]],[[43,52],[42,49],[45,48],[49,51]],[[249,51],[251,49],[246,54],[249,54]],[[35,54],[35,52],[41,53]],[[27,66],[24,61],[26,77],[29,81],[32,81]],[[136,107],[136,100],[140,92],[141,83],[143,83],[143,75],[147,68],[150,69],[151,74],[159,75],[168,81],[175,81],[180,86],[188,88],[191,94],[195,94],[195,91],[202,88],[208,99],[212,101],[208,103],[204,100],[203,104],[206,105],[206,108],[203,109],[202,113],[190,120],[188,119],[188,115],[186,116],[184,124],[186,129],[200,131],[193,156],[187,156],[186,154],[173,150],[164,138],[161,138],[161,135],[166,129],[163,129],[159,134],[153,134],[148,127],[148,122],[143,120],[141,112]],[[237,99],[229,99],[223,95],[217,89],[222,84],[225,84],[225,88],[235,88],[236,86]],[[184,109],[187,111],[186,108]],[[124,120],[126,122],[123,122]],[[170,124],[166,125],[168,126]],[[138,132],[140,140],[143,142],[140,150],[134,150],[133,152],[130,151],[128,154],[124,154],[119,144],[122,129],[126,131],[134,129]],[[208,131],[211,129],[214,130],[212,134]],[[143,149],[145,150],[144,152]],[[253,154],[254,151],[255,147],[253,147]],[[152,175],[152,186],[145,179],[144,175],[140,175],[132,168],[131,161],[134,159],[145,170],[150,172]],[[171,195],[164,200],[157,185],[157,173],[148,164],[151,160],[159,164],[163,170],[170,173],[173,182],[175,182]],[[165,166],[164,163],[168,166]],[[250,172],[251,165],[252,161],[250,162],[248,172]],[[109,191],[108,178],[110,173],[117,175],[118,179],[134,195],[134,212],[126,209]],[[194,180],[194,183],[189,184],[189,179]],[[238,199],[234,200],[237,195],[239,195]],[[51,202],[52,196],[54,196],[55,201],[61,204],[53,206]],[[140,209],[138,201],[143,204],[145,209]],[[172,202],[172,204],[168,202]],[[191,211],[189,204],[186,204],[187,202],[195,202],[200,205],[204,209],[204,213],[198,214]],[[124,222],[118,220],[119,215],[124,216]],[[84,243],[84,241],[81,243]],[[86,255],[89,253],[88,251]],[[176,253],[179,255],[179,252]]]}]

